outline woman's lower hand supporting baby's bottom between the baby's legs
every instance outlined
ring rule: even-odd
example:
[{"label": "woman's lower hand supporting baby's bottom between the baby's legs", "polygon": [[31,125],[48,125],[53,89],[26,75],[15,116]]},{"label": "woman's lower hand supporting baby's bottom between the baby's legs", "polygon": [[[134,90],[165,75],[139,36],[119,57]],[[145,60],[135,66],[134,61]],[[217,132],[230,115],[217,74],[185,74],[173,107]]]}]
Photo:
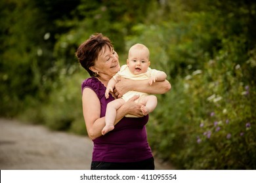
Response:
[{"label": "woman's lower hand supporting baby's bottom between the baby's legs", "polygon": [[140,109],[140,107],[142,105],[135,102],[135,100],[139,99],[139,97],[140,97],[139,95],[135,95],[135,96],[131,97],[131,99],[129,99],[123,105],[126,114],[131,114],[131,115],[137,116],[137,117],[143,117],[144,116],[142,114],[142,110]]}]

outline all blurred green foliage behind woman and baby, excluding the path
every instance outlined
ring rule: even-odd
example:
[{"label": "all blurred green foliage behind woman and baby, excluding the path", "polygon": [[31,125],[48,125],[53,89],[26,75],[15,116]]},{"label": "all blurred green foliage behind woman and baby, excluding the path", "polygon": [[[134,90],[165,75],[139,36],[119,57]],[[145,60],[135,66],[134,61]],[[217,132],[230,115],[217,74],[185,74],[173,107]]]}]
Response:
[{"label": "all blurred green foliage behind woman and baby, excluding the path", "polygon": [[177,169],[256,169],[256,2],[1,0],[0,116],[86,135],[75,58],[103,33],[121,64],[136,42],[172,89],[147,124]]}]

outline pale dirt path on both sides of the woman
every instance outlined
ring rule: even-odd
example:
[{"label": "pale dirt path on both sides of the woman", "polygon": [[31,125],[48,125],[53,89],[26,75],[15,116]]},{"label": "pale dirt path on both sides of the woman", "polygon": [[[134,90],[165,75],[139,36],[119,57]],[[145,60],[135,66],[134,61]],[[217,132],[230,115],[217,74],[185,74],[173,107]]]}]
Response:
[{"label": "pale dirt path on both sides of the woman", "polygon": [[[84,136],[0,118],[0,169],[90,169],[93,143]],[[156,169],[173,169],[156,159]]]}]

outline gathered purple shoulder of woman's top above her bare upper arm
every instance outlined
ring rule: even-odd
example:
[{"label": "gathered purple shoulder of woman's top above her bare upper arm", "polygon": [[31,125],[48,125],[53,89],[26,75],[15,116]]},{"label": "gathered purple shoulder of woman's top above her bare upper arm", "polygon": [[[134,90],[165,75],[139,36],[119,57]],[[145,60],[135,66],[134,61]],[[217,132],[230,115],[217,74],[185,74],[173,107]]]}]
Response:
[{"label": "gathered purple shoulder of woman's top above her bare upper arm", "polygon": [[106,87],[95,77],[83,80],[81,84],[82,93],[85,88],[90,88],[91,90],[93,90],[96,93],[96,95],[98,95],[98,97],[104,95],[106,90]]}]

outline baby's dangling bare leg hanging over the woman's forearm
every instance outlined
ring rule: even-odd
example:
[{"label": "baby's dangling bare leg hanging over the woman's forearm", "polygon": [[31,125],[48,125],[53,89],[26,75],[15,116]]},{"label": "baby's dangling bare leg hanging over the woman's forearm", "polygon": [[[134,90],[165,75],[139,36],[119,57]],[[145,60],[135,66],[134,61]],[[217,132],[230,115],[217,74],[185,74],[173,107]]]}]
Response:
[{"label": "baby's dangling bare leg hanging over the woman's forearm", "polygon": [[119,107],[121,107],[124,103],[125,101],[123,99],[116,99],[108,103],[105,115],[106,125],[101,131],[102,135],[105,135],[106,133],[114,129],[114,122],[116,120],[116,110]]}]

